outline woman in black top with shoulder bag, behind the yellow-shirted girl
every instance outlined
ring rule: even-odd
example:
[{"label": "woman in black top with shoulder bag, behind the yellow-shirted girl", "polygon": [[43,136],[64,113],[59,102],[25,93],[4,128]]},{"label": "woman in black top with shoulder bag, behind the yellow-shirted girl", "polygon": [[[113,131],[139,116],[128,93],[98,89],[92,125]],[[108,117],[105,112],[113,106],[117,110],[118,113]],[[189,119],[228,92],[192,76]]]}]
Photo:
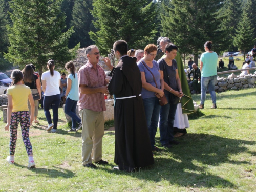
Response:
[{"label": "woman in black top with shoulder bag, behind the yellow-shirted girl", "polygon": [[[39,93],[40,99],[41,99],[41,86],[40,86],[40,79],[37,77],[37,75],[34,74],[34,70],[31,65],[26,65],[25,68],[22,70],[23,72],[23,82],[25,86],[28,86],[32,94]],[[40,100],[39,99],[39,100]],[[35,103],[35,113],[34,113],[34,122],[39,123],[37,120],[38,116],[38,100],[34,100]],[[30,108],[30,102],[28,101],[29,106],[29,114],[31,112]]]}]

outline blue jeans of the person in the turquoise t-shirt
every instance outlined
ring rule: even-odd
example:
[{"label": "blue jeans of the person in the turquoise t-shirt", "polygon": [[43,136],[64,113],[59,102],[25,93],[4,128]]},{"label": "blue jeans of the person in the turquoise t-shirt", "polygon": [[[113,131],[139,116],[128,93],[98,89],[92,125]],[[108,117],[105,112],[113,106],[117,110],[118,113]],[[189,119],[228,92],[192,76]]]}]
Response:
[{"label": "blue jeans of the person in the turquoise t-shirt", "polygon": [[216,93],[214,91],[215,84],[217,83],[217,75],[210,77],[201,77],[201,101],[200,104],[204,104],[206,98],[207,86],[210,92],[211,100],[213,104],[216,104]]}]

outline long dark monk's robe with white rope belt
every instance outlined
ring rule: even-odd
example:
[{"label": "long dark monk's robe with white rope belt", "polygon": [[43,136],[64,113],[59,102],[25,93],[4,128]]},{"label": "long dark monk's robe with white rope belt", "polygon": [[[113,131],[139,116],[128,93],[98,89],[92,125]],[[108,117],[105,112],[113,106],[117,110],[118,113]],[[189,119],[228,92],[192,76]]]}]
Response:
[{"label": "long dark monk's robe with white rope belt", "polygon": [[108,89],[116,98],[114,162],[120,170],[128,172],[154,164],[143,101],[140,96],[141,73],[135,57],[121,57],[118,65],[113,68]]}]

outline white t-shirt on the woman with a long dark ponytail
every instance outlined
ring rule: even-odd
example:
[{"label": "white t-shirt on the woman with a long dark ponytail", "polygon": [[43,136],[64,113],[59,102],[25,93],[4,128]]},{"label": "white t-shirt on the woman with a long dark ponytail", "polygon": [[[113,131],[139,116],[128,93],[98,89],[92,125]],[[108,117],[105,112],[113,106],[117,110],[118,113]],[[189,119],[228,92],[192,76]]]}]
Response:
[{"label": "white t-shirt on the woman with a long dark ponytail", "polygon": [[42,73],[42,80],[46,81],[46,92],[45,96],[60,94],[59,91],[59,80],[60,74],[57,71],[53,71],[53,76],[51,76],[50,71]]}]

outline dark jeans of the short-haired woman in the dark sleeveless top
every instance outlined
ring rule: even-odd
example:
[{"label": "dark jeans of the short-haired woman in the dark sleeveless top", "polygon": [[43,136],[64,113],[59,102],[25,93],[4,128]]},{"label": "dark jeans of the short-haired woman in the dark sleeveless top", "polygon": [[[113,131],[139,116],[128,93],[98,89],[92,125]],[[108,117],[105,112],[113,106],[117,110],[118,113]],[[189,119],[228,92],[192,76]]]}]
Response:
[{"label": "dark jeans of the short-haired woman in the dark sleeveless top", "polygon": [[174,117],[178,104],[169,103],[170,94],[165,94],[168,104],[161,106],[160,109],[160,142],[162,145],[168,144],[174,139]]}]

